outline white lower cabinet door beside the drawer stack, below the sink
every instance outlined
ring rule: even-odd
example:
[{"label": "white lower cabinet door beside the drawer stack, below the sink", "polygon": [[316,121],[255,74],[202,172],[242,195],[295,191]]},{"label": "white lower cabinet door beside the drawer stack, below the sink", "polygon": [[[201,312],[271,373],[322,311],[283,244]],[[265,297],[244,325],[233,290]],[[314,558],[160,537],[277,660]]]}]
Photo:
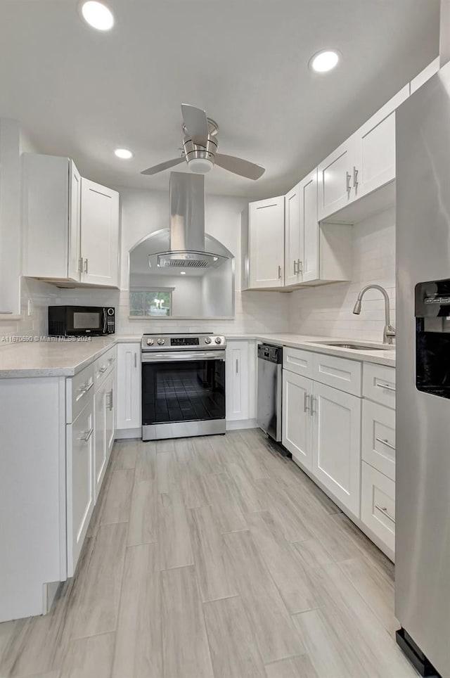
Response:
[{"label": "white lower cabinet door beside the drawer stack, below the sink", "polygon": [[361,399],[314,382],[312,473],[359,517]]}]

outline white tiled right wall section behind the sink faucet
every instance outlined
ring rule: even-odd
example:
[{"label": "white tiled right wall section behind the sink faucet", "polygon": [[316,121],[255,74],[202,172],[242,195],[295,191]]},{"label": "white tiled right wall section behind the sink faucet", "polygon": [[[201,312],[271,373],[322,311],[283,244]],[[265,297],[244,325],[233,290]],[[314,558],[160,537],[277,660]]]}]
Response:
[{"label": "white tiled right wall section behind the sink faucet", "polygon": [[364,295],[361,314],[352,313],[362,287],[387,289],[395,324],[395,210],[381,212],[353,227],[354,272],[350,283],[308,288],[289,295],[289,331],[311,335],[381,341],[385,325],[383,297]]}]

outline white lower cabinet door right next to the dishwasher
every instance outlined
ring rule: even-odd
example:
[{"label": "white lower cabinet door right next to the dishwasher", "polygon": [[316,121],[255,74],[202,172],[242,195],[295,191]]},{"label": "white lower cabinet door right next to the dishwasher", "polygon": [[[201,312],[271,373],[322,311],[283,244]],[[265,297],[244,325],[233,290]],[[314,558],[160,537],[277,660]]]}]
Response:
[{"label": "white lower cabinet door right next to the dishwasher", "polygon": [[312,381],[299,374],[283,370],[283,445],[311,471]]}]

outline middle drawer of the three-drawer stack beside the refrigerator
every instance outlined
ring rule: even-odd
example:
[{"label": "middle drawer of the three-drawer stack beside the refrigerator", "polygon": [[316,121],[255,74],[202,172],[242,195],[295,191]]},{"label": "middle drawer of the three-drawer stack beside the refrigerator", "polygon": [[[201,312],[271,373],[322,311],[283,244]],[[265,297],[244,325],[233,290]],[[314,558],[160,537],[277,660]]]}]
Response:
[{"label": "middle drawer of the three-drawer stack beside the refrigerator", "polygon": [[395,480],[395,410],[363,400],[362,457]]}]

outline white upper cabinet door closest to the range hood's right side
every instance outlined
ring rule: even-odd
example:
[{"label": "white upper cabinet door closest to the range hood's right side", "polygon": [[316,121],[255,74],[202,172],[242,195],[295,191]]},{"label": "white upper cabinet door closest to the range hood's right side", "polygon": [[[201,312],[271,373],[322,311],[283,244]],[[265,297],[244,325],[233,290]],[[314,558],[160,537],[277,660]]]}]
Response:
[{"label": "white upper cabinet door closest to the range hood's right side", "polygon": [[250,288],[283,287],[284,196],[249,205]]}]

